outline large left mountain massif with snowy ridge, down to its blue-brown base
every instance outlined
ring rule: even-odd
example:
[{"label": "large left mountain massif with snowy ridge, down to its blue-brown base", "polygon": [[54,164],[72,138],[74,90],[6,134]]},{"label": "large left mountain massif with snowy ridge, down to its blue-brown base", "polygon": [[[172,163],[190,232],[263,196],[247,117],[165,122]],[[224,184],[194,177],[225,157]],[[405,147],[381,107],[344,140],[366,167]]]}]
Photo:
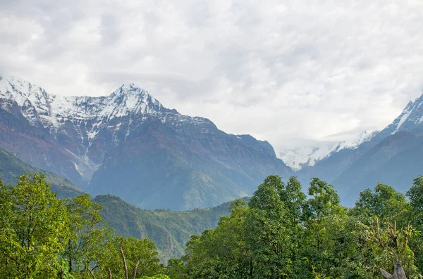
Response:
[{"label": "large left mountain massif with snowy ridge, down to its blue-brown base", "polygon": [[268,142],[180,115],[134,84],[65,97],[0,77],[0,148],[91,195],[146,209],[220,205],[251,195],[269,174],[293,174]]}]

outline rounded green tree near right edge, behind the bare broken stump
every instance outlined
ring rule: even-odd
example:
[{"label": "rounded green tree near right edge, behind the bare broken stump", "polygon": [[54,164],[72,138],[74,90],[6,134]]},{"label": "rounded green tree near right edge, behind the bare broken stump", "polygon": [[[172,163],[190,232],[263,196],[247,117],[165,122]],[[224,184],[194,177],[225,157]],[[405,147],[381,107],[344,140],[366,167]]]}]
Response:
[{"label": "rounded green tree near right edge, behind the bare broken stump", "polygon": [[[393,268],[401,259],[410,275],[416,275],[415,257],[410,243],[418,239],[410,224],[410,204],[393,187],[377,183],[374,190],[360,193],[355,207],[350,209],[349,230],[353,234],[353,249],[348,254],[349,272],[357,278],[380,274],[379,268]],[[393,226],[395,224],[395,226]],[[396,247],[407,240],[407,245]]]}]

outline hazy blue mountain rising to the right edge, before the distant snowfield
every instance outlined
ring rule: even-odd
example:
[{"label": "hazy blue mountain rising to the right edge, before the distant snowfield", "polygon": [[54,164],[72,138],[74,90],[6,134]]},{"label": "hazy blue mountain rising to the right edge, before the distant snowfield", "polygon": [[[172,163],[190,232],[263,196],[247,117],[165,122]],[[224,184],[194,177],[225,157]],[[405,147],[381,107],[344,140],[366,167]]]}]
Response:
[{"label": "hazy blue mountain rising to the right edge, before the distant snowfield", "polygon": [[405,192],[415,177],[423,175],[422,103],[423,95],[410,101],[391,124],[374,132],[369,140],[330,153],[295,175],[303,184],[314,176],[333,183],[347,206],[377,181]]}]

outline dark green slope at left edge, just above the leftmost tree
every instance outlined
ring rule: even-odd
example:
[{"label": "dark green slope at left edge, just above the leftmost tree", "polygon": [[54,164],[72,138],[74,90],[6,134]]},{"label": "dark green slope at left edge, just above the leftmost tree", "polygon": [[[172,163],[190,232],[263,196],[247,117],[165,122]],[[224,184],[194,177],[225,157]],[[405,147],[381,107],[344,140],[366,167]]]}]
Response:
[{"label": "dark green slope at left edge, just above the leftmost tree", "polygon": [[82,191],[71,181],[42,169],[31,167],[11,153],[6,152],[6,150],[0,149],[0,179],[4,184],[16,185],[17,177],[27,173],[44,174],[45,179],[51,183],[51,190],[57,193],[58,197],[75,197],[82,194]]}]

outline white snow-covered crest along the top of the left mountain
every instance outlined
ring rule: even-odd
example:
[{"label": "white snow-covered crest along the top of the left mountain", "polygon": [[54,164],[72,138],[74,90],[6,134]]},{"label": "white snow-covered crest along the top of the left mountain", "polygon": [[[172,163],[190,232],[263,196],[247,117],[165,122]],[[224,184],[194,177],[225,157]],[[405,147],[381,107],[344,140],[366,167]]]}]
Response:
[{"label": "white snow-covered crest along the top of the left mountain", "polygon": [[[100,119],[109,121],[131,115],[157,115],[168,110],[152,95],[135,84],[123,84],[109,96],[56,96],[39,86],[16,77],[0,79],[1,107],[7,110],[15,101],[25,118],[34,126],[56,130],[67,121]],[[103,121],[102,120],[102,121]]]}]

